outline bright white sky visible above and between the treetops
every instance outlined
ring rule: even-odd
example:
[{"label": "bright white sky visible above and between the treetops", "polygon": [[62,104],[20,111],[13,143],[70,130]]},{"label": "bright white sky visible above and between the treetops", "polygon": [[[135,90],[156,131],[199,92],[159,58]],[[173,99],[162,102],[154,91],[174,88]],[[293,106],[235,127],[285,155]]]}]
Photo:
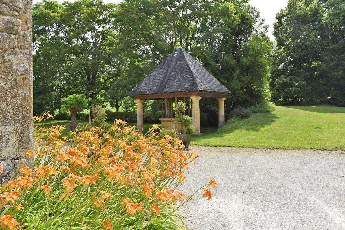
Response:
[{"label": "bright white sky visible above and between the treetops", "polygon": [[[33,0],[33,4],[39,2],[40,0]],[[56,0],[62,3],[65,0]],[[75,0],[68,0],[75,1]],[[103,0],[105,3],[118,3],[121,0]],[[276,13],[280,9],[287,6],[288,0],[250,0],[249,4],[253,5],[260,11],[260,16],[265,19],[265,23],[269,25],[268,36],[274,39],[273,32],[273,22],[275,21]]]}]

